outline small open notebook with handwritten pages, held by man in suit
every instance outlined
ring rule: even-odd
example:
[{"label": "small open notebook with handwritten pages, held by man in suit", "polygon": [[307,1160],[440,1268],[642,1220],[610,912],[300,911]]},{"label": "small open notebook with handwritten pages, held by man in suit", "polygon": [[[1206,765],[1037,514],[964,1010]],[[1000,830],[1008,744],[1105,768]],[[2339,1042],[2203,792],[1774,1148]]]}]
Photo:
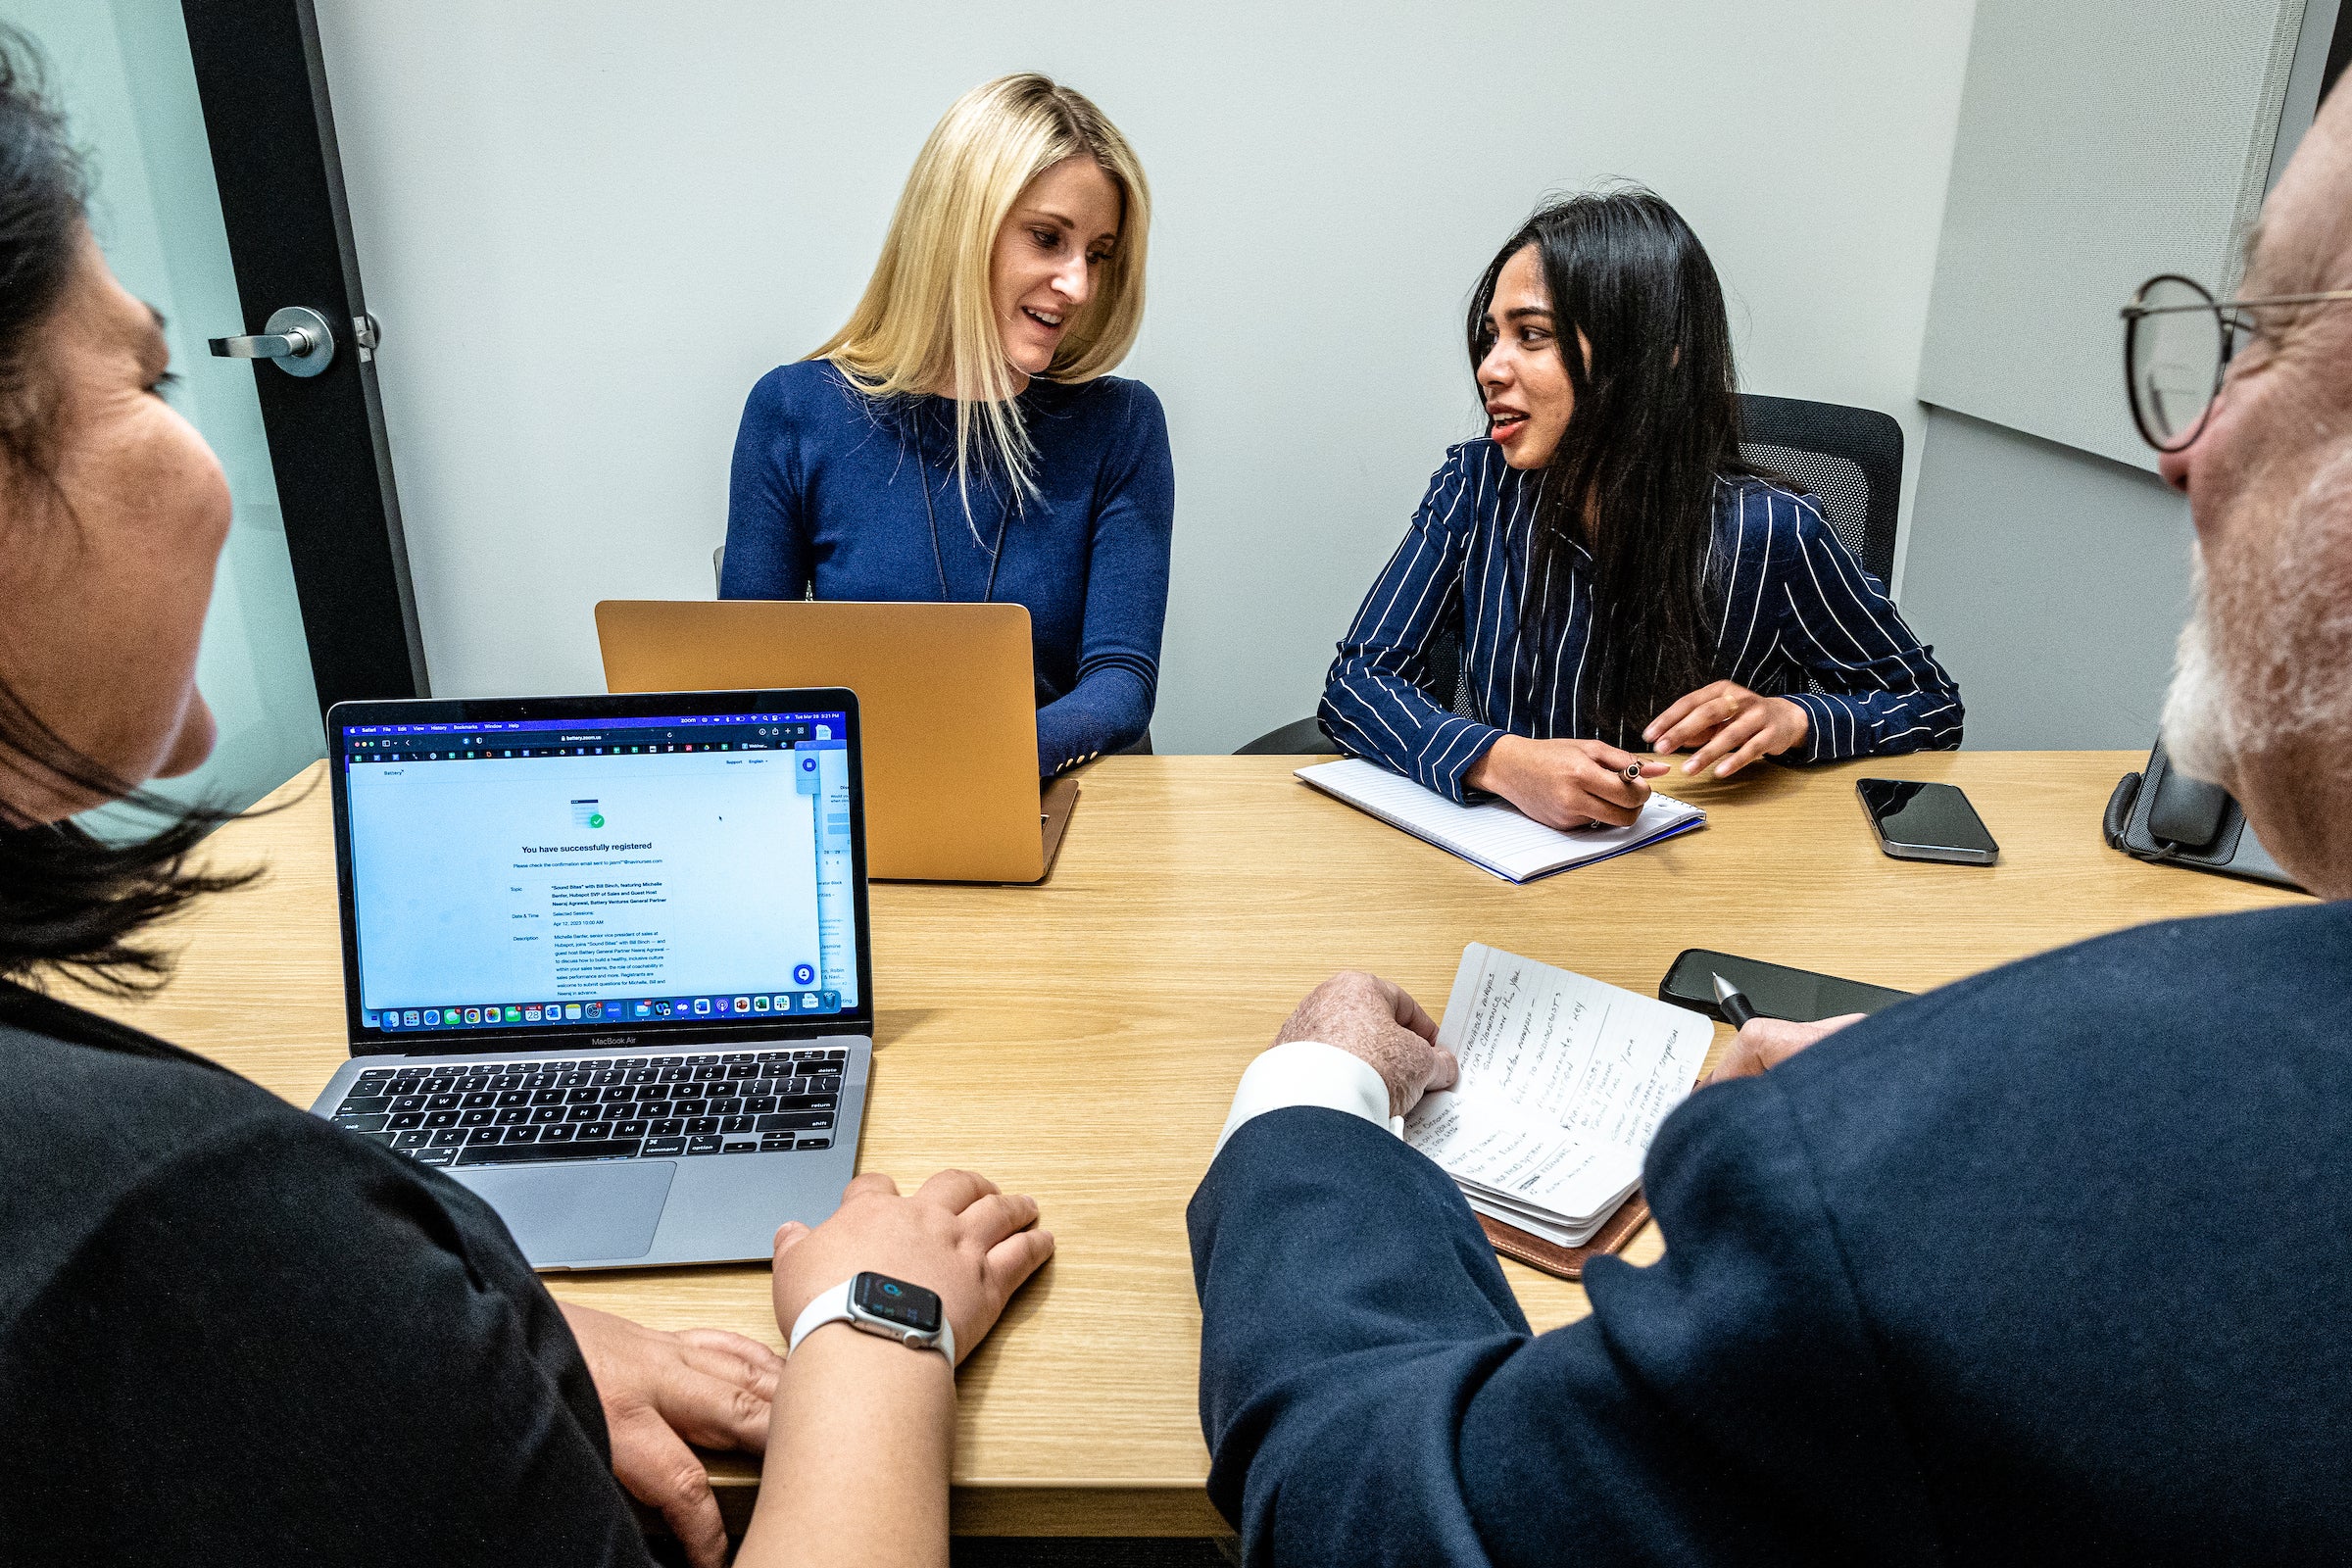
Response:
[{"label": "small open notebook with handwritten pages, held by man in suit", "polygon": [[1649,1218],[1642,1157],[1712,1041],[1700,1013],[1470,943],[1437,1027],[1461,1081],[1423,1095],[1404,1140],[1498,1253],[1576,1279]]}]

